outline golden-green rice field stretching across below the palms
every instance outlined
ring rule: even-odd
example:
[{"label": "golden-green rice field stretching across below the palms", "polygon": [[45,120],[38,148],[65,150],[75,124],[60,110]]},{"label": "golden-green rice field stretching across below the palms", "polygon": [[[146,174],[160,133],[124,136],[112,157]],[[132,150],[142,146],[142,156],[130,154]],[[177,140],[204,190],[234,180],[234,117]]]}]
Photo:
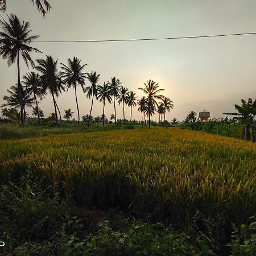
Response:
[{"label": "golden-green rice field stretching across below the palms", "polygon": [[26,170],[81,204],[188,223],[199,209],[243,222],[256,212],[256,145],[179,128],[2,140],[0,179]]}]

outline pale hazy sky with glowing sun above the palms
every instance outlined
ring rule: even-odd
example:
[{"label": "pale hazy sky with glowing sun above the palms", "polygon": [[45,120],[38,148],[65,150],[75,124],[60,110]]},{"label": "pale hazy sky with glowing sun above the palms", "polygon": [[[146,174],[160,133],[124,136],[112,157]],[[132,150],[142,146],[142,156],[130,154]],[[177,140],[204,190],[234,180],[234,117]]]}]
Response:
[{"label": "pale hazy sky with glowing sun above the palms", "polygon": [[[161,38],[210,34],[256,32],[255,0],[49,0],[52,10],[42,15],[30,0],[7,0],[7,11],[20,20],[29,21],[38,40],[100,40]],[[212,117],[233,111],[241,98],[256,96],[256,35],[220,38],[159,40],[151,42],[113,43],[32,43],[43,54],[52,55],[60,63],[76,56],[88,64],[85,72],[101,74],[100,84],[115,76],[124,86],[137,92],[148,79],[159,82],[164,95],[174,101],[174,109],[166,118],[183,120],[191,110],[208,110]],[[7,67],[0,59],[0,105],[6,89],[16,83],[16,65]],[[22,64],[21,74],[28,72]],[[86,85],[89,82],[86,81]],[[81,115],[89,114],[90,103],[78,90]],[[72,89],[57,98],[61,113],[71,108],[77,118],[75,92]],[[49,94],[40,108],[53,112]],[[106,105],[107,117],[114,105]],[[28,112],[30,113],[30,112]],[[129,117],[126,107],[126,117]],[[141,115],[133,110],[133,117]],[[96,102],[92,115],[102,114]],[[117,106],[117,118],[122,108]],[[156,115],[155,120],[158,119]]]}]

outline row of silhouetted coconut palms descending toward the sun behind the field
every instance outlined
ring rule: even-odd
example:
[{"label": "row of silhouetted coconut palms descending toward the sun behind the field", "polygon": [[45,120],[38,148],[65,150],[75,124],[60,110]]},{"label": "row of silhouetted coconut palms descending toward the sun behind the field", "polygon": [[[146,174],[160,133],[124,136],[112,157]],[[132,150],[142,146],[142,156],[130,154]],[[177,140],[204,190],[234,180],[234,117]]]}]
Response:
[{"label": "row of silhouetted coconut palms descending toward the sun behind the field", "polygon": [[[77,101],[77,87],[80,86],[86,97],[91,99],[90,114],[88,120],[88,127],[90,126],[90,117],[93,109],[94,99],[99,100],[103,104],[103,116],[105,115],[105,104],[114,104],[114,122],[117,122],[116,106],[115,104],[122,105],[123,108],[123,123],[125,123],[125,105],[130,107],[130,123],[132,120],[133,107],[138,104],[138,111],[141,112],[142,124],[143,117],[146,123],[146,116],[150,120],[152,115],[159,113],[164,115],[170,112],[173,108],[173,102],[170,98],[164,97],[159,84],[154,80],[144,82],[143,87],[139,88],[146,96],[138,99],[134,91],[129,91],[116,77],[112,77],[110,81],[104,82],[99,85],[100,74],[96,71],[90,73],[84,72],[87,64],[81,64],[81,60],[77,57],[69,58],[67,64],[61,63],[61,71],[57,69],[57,60],[53,60],[52,56],[46,56],[46,59],[37,59],[35,62],[31,59],[30,53],[42,53],[39,49],[30,46],[30,43],[37,39],[38,35],[31,35],[29,30],[30,24],[28,22],[20,22],[16,15],[11,14],[8,20],[0,20],[0,53],[3,59],[7,59],[7,64],[17,64],[17,80],[18,83],[11,86],[10,96],[4,96],[7,102],[2,106],[12,106],[13,108],[20,109],[20,120],[23,126],[26,121],[26,106],[36,105],[33,112],[38,117],[40,125],[40,116],[42,117],[42,110],[38,107],[38,100],[42,100],[47,92],[51,94],[53,107],[55,112],[55,124],[58,124],[58,115],[61,122],[61,113],[57,105],[57,97],[62,92],[68,91],[69,88],[75,90],[75,99],[78,114],[78,125],[80,123],[79,102]],[[37,72],[31,71],[26,73],[20,79],[20,59],[29,66],[31,65]],[[85,81],[89,81],[90,85],[85,86]],[[104,125],[102,118],[102,124]]]}]

